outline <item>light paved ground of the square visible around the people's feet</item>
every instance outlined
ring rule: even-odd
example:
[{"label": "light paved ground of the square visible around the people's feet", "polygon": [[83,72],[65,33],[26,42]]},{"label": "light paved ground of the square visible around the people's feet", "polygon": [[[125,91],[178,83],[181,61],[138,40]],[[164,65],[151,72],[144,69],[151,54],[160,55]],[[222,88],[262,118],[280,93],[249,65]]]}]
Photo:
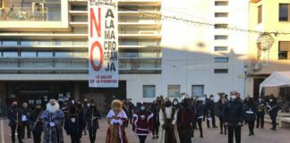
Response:
[{"label": "light paved ground of the square visible around the people's feet", "polygon": [[[203,122],[203,127],[206,127]],[[269,130],[270,125],[266,124],[265,129],[255,129],[255,136],[248,136],[247,125],[243,126],[242,130],[242,142],[243,143],[289,143],[290,141],[290,128],[277,128],[277,131]],[[10,128],[8,121],[3,119],[0,121],[0,143],[10,143]],[[107,122],[105,120],[100,121],[100,129],[97,131],[97,143],[103,143],[106,139]],[[193,143],[226,143],[227,136],[220,135],[219,129],[207,129],[204,128],[204,138],[200,139],[199,130],[195,130],[195,137],[192,139]],[[127,136],[130,143],[138,143],[137,137],[133,134],[131,127],[127,129]],[[158,140],[148,137],[147,143],[157,143]],[[23,139],[24,143],[32,143],[32,139]],[[69,143],[71,139],[64,134],[64,142]],[[82,143],[90,143],[88,135],[84,135],[81,139]]]}]

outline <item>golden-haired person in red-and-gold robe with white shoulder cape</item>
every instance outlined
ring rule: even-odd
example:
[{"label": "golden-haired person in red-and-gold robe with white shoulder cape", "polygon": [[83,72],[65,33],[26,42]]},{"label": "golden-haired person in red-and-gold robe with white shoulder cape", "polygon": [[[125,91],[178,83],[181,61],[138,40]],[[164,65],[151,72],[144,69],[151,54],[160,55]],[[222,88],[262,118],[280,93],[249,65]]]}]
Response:
[{"label": "golden-haired person in red-and-gold robe with white shoulder cape", "polygon": [[109,127],[107,129],[106,143],[128,143],[124,131],[124,124],[128,121],[128,118],[122,109],[122,102],[114,100],[111,107],[112,109],[107,114]]}]

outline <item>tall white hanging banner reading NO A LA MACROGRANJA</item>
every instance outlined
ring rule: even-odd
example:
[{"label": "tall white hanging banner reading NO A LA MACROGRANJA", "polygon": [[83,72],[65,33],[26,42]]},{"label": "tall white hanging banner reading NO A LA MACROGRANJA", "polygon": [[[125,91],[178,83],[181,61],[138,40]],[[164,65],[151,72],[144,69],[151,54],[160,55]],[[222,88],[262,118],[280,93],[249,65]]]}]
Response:
[{"label": "tall white hanging banner reading NO A LA MACROGRANJA", "polygon": [[118,87],[118,14],[116,0],[88,0],[89,87]]}]

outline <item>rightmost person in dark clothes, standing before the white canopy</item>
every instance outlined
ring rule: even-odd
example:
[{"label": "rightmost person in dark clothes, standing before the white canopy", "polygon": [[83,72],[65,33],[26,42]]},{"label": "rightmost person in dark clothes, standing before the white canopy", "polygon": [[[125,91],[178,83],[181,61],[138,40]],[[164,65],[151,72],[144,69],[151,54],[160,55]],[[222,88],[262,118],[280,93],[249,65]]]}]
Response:
[{"label": "rightmost person in dark clothes, standing before the white canopy", "polygon": [[272,128],[270,130],[277,130],[277,112],[278,112],[278,106],[277,106],[277,99],[274,97],[274,95],[270,95],[269,97],[269,105],[268,105],[268,113],[272,121]]}]

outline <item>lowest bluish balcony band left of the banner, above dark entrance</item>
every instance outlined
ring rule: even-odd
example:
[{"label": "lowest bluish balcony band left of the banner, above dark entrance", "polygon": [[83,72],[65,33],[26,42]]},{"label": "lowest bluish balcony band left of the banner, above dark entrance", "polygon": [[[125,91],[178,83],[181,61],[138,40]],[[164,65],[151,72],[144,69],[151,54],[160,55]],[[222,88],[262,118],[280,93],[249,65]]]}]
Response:
[{"label": "lowest bluish balcony band left of the banner, above dark entrance", "polygon": [[0,74],[86,74],[85,58],[1,57]]}]

